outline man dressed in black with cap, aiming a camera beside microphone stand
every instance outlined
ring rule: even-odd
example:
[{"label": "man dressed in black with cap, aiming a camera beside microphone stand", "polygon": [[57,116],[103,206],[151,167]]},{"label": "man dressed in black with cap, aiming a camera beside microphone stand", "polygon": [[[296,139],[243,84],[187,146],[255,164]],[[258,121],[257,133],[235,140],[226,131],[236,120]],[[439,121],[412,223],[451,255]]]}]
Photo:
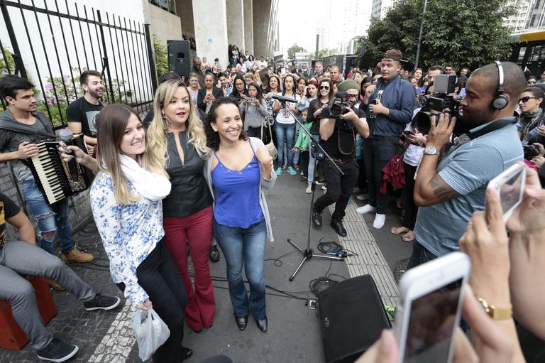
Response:
[{"label": "man dressed in black with cap, aiming a camera beside microphone stand", "polygon": [[323,210],[335,203],[330,225],[341,237],[346,237],[346,229],[343,226],[344,210],[358,182],[356,133],[363,137],[369,136],[365,114],[360,109],[353,108],[358,102],[359,89],[360,86],[353,80],[339,83],[334,104],[326,107],[319,115],[320,137],[324,140],[324,151],[333,161],[329,158],[324,159],[327,193],[314,202],[312,222],[316,227],[321,227]]}]

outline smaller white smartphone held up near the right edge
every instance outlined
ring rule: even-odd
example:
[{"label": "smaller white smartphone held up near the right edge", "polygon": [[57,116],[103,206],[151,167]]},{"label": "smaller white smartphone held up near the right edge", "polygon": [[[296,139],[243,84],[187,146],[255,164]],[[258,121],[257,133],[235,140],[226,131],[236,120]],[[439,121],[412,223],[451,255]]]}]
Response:
[{"label": "smaller white smartphone held up near the right edge", "polygon": [[522,202],[526,185],[526,166],[513,164],[488,183],[488,188],[494,188],[500,195],[503,210],[503,220],[509,219],[513,210]]}]

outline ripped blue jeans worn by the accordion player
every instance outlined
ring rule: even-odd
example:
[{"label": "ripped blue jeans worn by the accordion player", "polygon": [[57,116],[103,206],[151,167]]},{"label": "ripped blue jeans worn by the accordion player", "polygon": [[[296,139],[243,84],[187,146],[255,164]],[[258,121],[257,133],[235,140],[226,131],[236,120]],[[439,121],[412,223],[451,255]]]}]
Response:
[{"label": "ripped blue jeans worn by the accordion player", "polygon": [[55,254],[55,234],[44,238],[42,234],[56,232],[60,241],[62,252],[69,252],[74,246],[72,240],[72,226],[70,225],[70,209],[68,199],[65,198],[53,205],[48,205],[42,192],[38,188],[34,178],[23,180],[23,194],[25,195],[28,209],[38,222],[38,246]]}]

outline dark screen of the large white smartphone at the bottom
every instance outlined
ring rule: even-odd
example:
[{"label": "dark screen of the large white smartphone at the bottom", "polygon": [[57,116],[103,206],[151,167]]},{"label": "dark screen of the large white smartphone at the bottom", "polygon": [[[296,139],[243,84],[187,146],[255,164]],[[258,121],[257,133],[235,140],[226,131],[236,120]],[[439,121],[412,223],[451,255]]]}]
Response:
[{"label": "dark screen of the large white smartphone at the bottom", "polygon": [[461,286],[460,278],[412,300],[403,362],[448,362]]}]

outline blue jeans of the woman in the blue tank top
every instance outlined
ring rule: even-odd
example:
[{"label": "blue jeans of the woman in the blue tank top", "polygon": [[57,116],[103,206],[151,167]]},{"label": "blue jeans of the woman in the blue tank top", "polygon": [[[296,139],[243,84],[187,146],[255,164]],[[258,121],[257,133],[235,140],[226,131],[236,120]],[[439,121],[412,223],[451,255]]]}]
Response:
[{"label": "blue jeans of the woman in the blue tank top", "polygon": [[[265,318],[265,219],[248,228],[227,227],[214,219],[214,237],[227,263],[229,296],[235,316],[246,316],[252,311],[255,320]],[[250,284],[250,298],[242,279],[242,266]]]}]

